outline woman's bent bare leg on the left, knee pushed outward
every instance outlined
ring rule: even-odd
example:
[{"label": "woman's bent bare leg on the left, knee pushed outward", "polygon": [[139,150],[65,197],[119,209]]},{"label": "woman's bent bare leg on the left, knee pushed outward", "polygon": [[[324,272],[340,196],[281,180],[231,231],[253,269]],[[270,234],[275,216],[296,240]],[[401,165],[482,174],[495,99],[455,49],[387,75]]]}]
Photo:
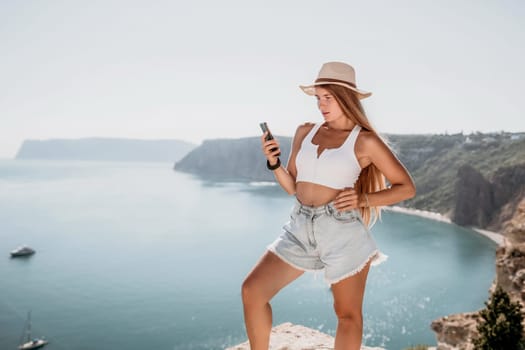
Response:
[{"label": "woman's bent bare leg on the left, knee pushed outward", "polygon": [[251,350],[268,350],[272,329],[270,299],[301,276],[272,252],[266,252],[242,284],[244,322]]}]

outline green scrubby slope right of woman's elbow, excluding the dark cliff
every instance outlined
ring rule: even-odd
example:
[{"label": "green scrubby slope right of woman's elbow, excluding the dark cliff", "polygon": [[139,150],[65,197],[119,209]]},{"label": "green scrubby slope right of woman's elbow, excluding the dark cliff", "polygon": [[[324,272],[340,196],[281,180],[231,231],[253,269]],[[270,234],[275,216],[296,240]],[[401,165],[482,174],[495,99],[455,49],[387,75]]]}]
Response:
[{"label": "green scrubby slope right of woman's elbow, excluding the dark cliff", "polygon": [[387,137],[411,172],[417,196],[406,206],[448,214],[454,207],[457,171],[468,164],[491,180],[494,173],[525,162],[525,137],[508,134],[392,135]]}]

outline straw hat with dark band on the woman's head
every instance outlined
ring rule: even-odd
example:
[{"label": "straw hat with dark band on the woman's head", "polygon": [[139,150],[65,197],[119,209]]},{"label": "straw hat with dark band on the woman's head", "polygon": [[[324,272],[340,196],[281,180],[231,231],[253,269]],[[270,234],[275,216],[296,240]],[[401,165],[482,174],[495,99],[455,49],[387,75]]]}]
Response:
[{"label": "straw hat with dark band on the woman's head", "polygon": [[315,95],[315,87],[319,85],[334,84],[344,86],[357,93],[360,99],[372,95],[371,92],[359,90],[355,83],[354,68],[343,62],[327,62],[323,64],[317,79],[312,85],[299,85],[299,87],[308,95]]}]

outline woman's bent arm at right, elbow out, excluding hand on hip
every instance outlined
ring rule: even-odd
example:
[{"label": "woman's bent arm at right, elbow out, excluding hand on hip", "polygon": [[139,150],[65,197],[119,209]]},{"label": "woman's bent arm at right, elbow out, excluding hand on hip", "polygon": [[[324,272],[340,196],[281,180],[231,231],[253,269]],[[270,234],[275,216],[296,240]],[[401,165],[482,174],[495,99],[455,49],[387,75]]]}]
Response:
[{"label": "woman's bent arm at right, elbow out, excluding hand on hip", "polygon": [[390,182],[390,187],[387,189],[359,196],[359,207],[392,205],[416,195],[416,186],[412,177],[377,134],[362,133],[359,141],[359,144],[356,144],[358,150],[356,153],[363,155],[359,158],[359,163],[362,166],[374,164]]}]

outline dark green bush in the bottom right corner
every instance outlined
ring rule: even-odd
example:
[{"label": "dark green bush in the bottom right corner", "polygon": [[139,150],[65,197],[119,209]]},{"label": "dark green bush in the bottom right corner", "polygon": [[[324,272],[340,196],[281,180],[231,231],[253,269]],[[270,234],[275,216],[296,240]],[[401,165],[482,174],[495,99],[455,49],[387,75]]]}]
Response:
[{"label": "dark green bush in the bottom right corner", "polygon": [[509,295],[498,288],[485,305],[486,308],[480,312],[479,337],[474,340],[475,349],[525,349],[520,303],[511,302]]}]

